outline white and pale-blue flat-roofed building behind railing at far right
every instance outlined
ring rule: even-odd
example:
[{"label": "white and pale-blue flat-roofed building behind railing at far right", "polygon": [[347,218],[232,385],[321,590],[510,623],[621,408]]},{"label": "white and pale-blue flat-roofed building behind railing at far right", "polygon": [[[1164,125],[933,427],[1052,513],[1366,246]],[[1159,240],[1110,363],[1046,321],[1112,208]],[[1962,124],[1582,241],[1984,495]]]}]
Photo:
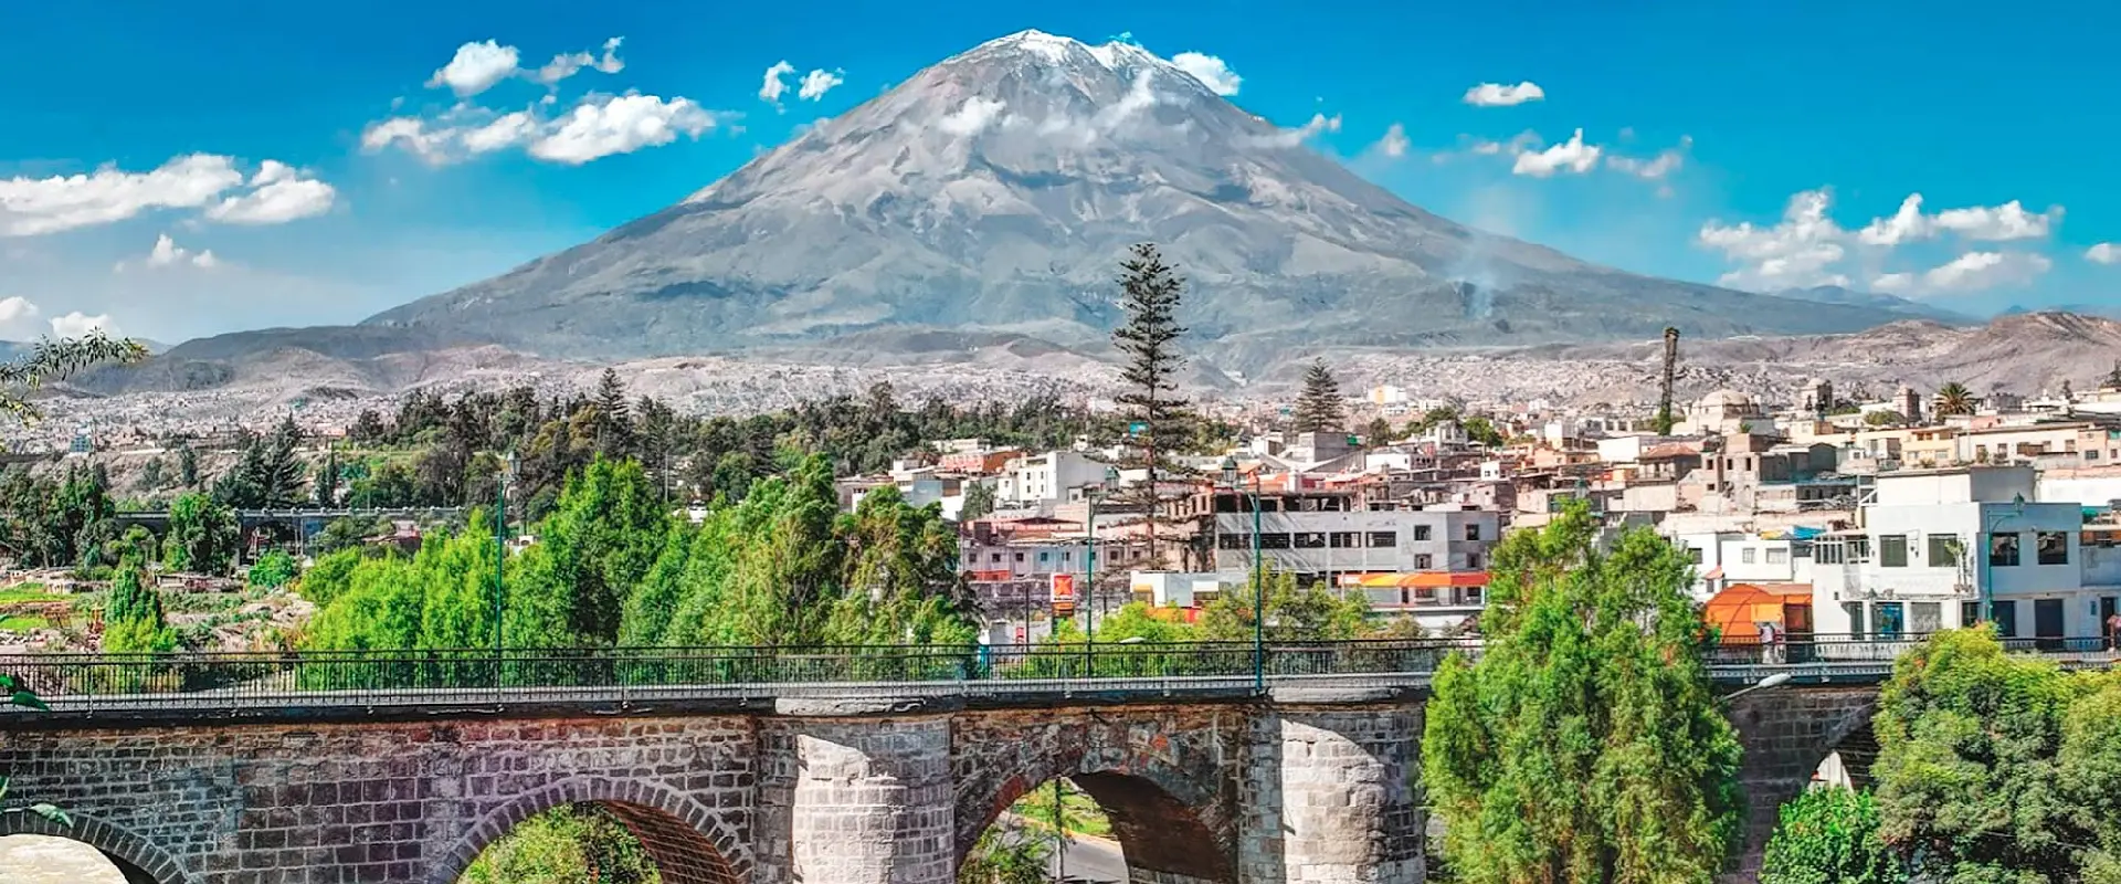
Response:
[{"label": "white and pale-blue flat-roofed building behind railing at far right", "polygon": [[1822,636],[1964,627],[1987,600],[2006,638],[2089,638],[2121,600],[2121,564],[2087,555],[2083,507],[2034,500],[2032,466],[1881,473],[1858,526],[1813,545]]}]

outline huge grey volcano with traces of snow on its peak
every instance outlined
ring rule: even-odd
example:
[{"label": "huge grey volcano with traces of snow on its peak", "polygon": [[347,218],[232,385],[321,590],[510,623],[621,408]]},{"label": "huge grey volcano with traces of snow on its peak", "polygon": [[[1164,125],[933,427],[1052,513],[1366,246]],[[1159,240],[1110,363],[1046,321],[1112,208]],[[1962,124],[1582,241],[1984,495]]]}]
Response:
[{"label": "huge grey volcano with traces of snow on its peak", "polygon": [[[1883,314],[1652,280],[1478,233],[1133,42],[1018,32],[916,72],[685,201],[388,322],[545,354],[872,329],[1103,348],[1116,261],[1158,242],[1234,365],[1330,343],[1847,331]],[[1461,284],[1470,282],[1470,284]]]}]

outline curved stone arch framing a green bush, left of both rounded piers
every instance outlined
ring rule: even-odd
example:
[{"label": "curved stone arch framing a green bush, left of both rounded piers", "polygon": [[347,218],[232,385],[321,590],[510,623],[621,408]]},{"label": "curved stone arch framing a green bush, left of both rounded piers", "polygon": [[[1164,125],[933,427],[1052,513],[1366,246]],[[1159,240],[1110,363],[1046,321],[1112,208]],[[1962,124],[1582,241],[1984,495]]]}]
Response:
[{"label": "curved stone arch framing a green bush, left of both rounded piers", "polygon": [[579,776],[488,810],[443,854],[441,865],[428,873],[428,884],[456,884],[458,876],[479,859],[479,852],[515,825],[551,808],[575,803],[596,806],[626,825],[655,861],[666,884],[744,884],[751,880],[749,852],[730,823],[706,806],[641,780]]}]

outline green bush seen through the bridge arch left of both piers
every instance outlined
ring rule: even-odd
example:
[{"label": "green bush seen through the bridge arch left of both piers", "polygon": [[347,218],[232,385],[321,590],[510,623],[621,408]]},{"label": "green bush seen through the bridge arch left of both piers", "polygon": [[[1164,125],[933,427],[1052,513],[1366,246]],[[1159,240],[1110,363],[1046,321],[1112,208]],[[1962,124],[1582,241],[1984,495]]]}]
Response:
[{"label": "green bush seen through the bridge arch left of both piers", "polygon": [[658,884],[655,861],[594,803],[530,816],[479,852],[458,884]]}]

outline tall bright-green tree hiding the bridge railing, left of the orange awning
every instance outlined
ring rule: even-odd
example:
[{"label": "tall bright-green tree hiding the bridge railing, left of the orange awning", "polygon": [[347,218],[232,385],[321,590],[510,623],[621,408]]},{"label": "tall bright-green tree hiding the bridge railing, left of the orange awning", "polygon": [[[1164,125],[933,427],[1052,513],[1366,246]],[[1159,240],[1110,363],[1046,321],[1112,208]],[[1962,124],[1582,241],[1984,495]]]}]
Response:
[{"label": "tall bright-green tree hiding the bridge railing, left of the orange awning", "polygon": [[1423,731],[1455,878],[1712,882],[1739,833],[1739,742],[1688,558],[1648,530],[1601,551],[1570,507],[1504,538],[1493,574],[1480,657],[1444,661]]}]

